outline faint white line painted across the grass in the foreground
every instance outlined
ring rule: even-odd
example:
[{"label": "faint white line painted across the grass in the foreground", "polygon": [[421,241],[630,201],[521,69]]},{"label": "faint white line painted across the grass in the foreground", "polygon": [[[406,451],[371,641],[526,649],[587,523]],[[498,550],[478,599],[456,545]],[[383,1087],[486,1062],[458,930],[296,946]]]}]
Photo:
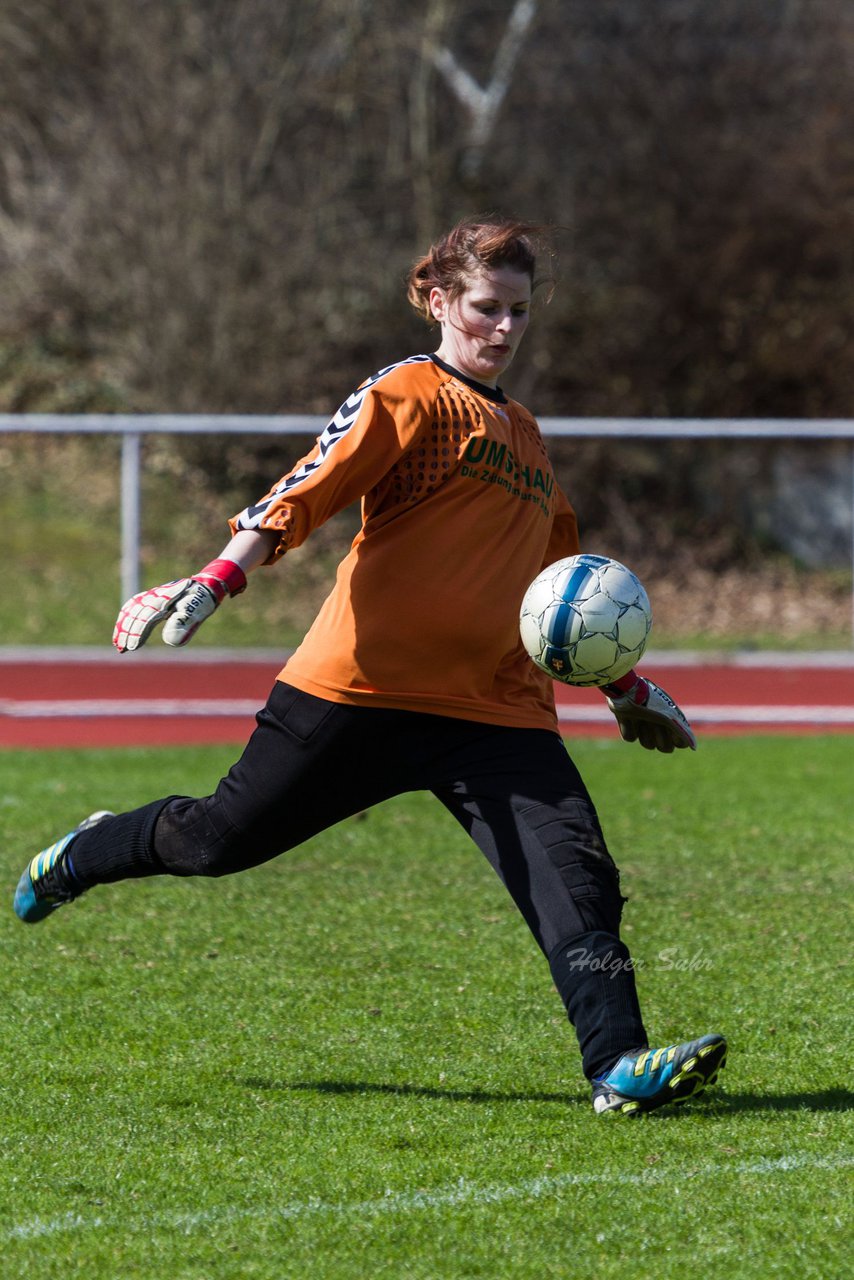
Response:
[{"label": "faint white line painted across the grass in the foreground", "polygon": [[[607,1123],[607,1121],[606,1121]],[[512,1201],[547,1199],[561,1196],[576,1187],[656,1187],[662,1183],[673,1184],[676,1192],[697,1178],[769,1178],[782,1174],[798,1174],[804,1170],[826,1170],[836,1172],[854,1165],[854,1156],[781,1156],[777,1160],[740,1161],[736,1165],[697,1165],[679,1169],[649,1169],[640,1174],[626,1174],[621,1170],[595,1174],[553,1174],[544,1178],[530,1178],[521,1183],[471,1183],[465,1178],[437,1190],[388,1190],[384,1196],[369,1201],[323,1201],[311,1197],[305,1201],[291,1201],[283,1204],[250,1204],[243,1208],[222,1207],[201,1210],[197,1213],[150,1213],[138,1217],[123,1217],[118,1213],[86,1217],[82,1213],[63,1213],[59,1217],[32,1217],[0,1230],[3,1240],[32,1240],[51,1235],[79,1231],[136,1231],[150,1234],[156,1230],[193,1231],[228,1225],[233,1222],[286,1222],[298,1219],[355,1219],[365,1220],[383,1213],[417,1213],[423,1210],[446,1210],[457,1206],[475,1208],[490,1204],[504,1204]]]}]

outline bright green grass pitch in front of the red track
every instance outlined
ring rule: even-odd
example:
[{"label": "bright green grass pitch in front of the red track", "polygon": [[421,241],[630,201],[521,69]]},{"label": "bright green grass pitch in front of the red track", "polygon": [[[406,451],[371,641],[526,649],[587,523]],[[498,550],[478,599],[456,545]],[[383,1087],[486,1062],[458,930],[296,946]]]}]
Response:
[{"label": "bright green grass pitch in front of the red track", "polygon": [[[8,902],[93,808],[232,751],[5,753]],[[595,1117],[544,961],[429,796],[220,882],[3,915],[0,1276],[836,1277],[850,1236],[850,737],[574,751],[652,1034],[721,1085]]]}]

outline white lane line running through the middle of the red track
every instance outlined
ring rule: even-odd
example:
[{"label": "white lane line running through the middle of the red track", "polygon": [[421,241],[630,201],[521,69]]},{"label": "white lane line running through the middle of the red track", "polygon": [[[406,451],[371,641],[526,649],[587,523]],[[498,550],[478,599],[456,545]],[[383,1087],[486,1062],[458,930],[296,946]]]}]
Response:
[{"label": "white lane line running through the middle of the red track", "polygon": [[[63,699],[0,699],[0,717],[10,719],[92,719],[110,717],[143,718],[173,716],[241,717],[255,716],[259,701],[247,698],[63,698]],[[558,705],[562,724],[609,724],[607,707]],[[817,707],[711,705],[686,707],[697,724],[850,724],[854,707],[835,704]]]}]

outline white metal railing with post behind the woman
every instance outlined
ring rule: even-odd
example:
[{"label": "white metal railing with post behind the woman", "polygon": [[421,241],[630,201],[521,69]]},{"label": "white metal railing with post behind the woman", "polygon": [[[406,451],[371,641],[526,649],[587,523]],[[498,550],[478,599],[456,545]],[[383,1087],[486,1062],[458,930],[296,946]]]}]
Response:
[{"label": "white metal railing with post behind the woman", "polygon": [[[542,417],[543,435],[667,440],[850,440],[854,571],[854,420]],[[141,457],[146,435],[319,435],[316,413],[0,413],[0,433],[96,434],[122,439],[122,599],[140,590]],[[851,593],[854,636],[854,590]]]}]

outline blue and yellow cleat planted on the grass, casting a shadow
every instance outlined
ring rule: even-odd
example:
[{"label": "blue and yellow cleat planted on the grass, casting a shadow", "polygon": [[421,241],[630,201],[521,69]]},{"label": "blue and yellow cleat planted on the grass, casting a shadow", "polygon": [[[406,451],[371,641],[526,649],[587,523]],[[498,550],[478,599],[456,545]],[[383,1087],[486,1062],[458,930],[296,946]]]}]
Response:
[{"label": "blue and yellow cleat planted on the grass, casting a shadow", "polygon": [[685,1102],[714,1084],[726,1066],[722,1036],[702,1036],[684,1044],[644,1048],[622,1057],[593,1080],[593,1110],[624,1116],[654,1111],[667,1102]]}]

